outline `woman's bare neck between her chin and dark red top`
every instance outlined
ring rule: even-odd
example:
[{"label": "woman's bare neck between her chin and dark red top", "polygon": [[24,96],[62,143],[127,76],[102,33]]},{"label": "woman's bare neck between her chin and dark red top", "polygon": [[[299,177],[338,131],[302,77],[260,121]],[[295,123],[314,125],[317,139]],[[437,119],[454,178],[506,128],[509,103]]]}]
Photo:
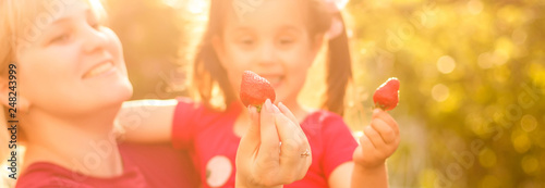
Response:
[{"label": "woman's bare neck between her chin and dark red top", "polygon": [[112,127],[118,108],[73,118],[36,110],[25,120],[27,150],[25,166],[50,162],[94,177],[112,177],[123,172]]}]

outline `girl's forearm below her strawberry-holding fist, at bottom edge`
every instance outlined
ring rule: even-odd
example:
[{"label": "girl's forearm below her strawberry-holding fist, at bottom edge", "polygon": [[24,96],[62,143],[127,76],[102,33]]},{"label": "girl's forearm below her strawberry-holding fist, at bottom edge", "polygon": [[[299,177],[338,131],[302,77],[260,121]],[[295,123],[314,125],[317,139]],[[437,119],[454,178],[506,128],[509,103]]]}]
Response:
[{"label": "girl's forearm below her strawberry-holding fist, at bottom edge", "polygon": [[388,174],[386,163],[374,167],[364,167],[354,164],[352,173],[352,188],[387,188]]}]

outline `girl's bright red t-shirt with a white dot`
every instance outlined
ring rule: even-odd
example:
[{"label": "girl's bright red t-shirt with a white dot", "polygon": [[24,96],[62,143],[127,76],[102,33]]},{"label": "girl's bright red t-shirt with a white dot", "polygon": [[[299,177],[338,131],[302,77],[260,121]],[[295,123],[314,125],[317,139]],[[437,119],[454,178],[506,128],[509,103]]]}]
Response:
[{"label": "girl's bright red t-shirt with a white dot", "polygon": [[[172,145],[186,149],[204,187],[234,187],[234,159],[240,138],[233,125],[242,105],[232,104],[226,112],[208,110],[201,103],[180,98],[174,111]],[[331,172],[352,161],[358,143],[342,117],[317,111],[301,123],[312,149],[306,176],[284,187],[328,187]]]}]

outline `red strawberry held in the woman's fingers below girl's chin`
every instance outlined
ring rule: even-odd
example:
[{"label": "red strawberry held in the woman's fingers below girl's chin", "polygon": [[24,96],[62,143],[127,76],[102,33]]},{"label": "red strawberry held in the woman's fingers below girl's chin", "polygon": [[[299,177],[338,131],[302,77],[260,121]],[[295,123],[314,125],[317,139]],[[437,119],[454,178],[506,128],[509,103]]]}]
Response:
[{"label": "red strawberry held in the woman's fingers below girl's chin", "polygon": [[251,71],[244,71],[240,86],[240,99],[244,106],[254,105],[261,112],[263,103],[267,99],[275,101],[275,89],[270,83]]}]

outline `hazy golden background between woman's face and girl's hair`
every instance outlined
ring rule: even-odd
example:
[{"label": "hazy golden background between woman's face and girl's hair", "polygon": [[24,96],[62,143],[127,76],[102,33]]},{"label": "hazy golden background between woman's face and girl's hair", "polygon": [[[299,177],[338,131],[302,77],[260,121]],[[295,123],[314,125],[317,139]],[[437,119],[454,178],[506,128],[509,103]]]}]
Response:
[{"label": "hazy golden background between woman's face and girl's hair", "polygon": [[182,48],[187,40],[184,9],[159,0],[109,0],[109,26],[123,43],[132,99],[170,99],[185,95],[181,71]]}]

